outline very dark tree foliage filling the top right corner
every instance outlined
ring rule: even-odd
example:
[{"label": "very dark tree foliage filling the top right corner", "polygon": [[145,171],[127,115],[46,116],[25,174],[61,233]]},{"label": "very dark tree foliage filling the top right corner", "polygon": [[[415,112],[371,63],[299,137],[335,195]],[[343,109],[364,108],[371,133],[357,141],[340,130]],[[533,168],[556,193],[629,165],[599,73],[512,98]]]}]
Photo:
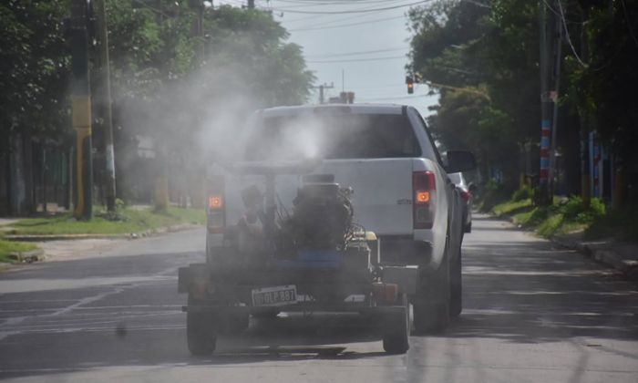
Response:
[{"label": "very dark tree foliage filling the top right corner", "polygon": [[567,17],[582,23],[567,24],[564,103],[631,166],[638,161],[633,154],[638,145],[638,2],[581,0],[565,8]]}]

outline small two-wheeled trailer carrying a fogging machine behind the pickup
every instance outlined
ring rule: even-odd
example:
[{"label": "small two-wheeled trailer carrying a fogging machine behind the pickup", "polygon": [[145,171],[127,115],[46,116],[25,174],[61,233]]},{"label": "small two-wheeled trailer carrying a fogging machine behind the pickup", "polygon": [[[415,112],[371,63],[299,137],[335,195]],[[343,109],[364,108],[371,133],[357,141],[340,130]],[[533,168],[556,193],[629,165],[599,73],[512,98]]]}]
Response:
[{"label": "small two-wheeled trailer carrying a fogging machine behind the pickup", "polygon": [[[222,245],[209,249],[206,263],[179,270],[178,290],[188,294],[182,309],[191,354],[210,355],[217,336],[244,330],[249,316],[282,311],[358,313],[372,321],[387,353],[409,348],[408,295],[417,289],[417,269],[382,264],[376,234],[353,222],[355,191],[330,174],[307,174],[314,168],[227,169],[259,175],[263,182],[242,190],[245,214],[223,225]],[[275,179],[282,174],[302,178],[293,212],[277,201]],[[224,196],[215,193],[220,180],[210,182],[209,223],[218,223],[224,209]]]}]

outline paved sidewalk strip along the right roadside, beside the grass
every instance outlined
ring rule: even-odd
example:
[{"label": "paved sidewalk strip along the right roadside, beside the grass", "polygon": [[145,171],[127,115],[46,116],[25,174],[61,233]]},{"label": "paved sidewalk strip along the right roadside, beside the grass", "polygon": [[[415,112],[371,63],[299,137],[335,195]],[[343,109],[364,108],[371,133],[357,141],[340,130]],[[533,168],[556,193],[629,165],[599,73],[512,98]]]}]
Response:
[{"label": "paved sidewalk strip along the right roadside, beside the grass", "polygon": [[552,243],[592,257],[593,260],[612,267],[638,281],[638,243],[619,242],[615,239],[587,241],[583,233],[570,233],[551,238]]}]

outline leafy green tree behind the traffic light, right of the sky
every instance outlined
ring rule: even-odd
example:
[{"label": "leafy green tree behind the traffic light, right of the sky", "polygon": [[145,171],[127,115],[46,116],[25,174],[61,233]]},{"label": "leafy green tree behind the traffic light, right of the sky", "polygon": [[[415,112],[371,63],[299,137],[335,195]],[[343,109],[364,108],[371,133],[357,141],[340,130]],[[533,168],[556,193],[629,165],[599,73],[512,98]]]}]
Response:
[{"label": "leafy green tree behind the traffic light, right of the sky", "polygon": [[539,130],[536,12],[522,0],[437,2],[410,12],[408,67],[444,85],[434,85],[432,129],[446,146],[474,150],[484,171],[503,171],[511,186],[519,171],[512,159]]}]

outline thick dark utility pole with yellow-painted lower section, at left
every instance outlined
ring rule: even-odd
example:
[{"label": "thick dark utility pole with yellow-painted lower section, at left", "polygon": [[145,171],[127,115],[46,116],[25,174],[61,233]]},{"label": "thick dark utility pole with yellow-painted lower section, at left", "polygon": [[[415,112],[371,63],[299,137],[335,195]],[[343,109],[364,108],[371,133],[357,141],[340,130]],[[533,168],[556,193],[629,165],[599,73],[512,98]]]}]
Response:
[{"label": "thick dark utility pole with yellow-painted lower section, at left", "polygon": [[71,107],[76,129],[76,204],[73,215],[90,220],[93,215],[93,159],[91,147],[91,96],[88,79],[87,0],[71,1]]}]

